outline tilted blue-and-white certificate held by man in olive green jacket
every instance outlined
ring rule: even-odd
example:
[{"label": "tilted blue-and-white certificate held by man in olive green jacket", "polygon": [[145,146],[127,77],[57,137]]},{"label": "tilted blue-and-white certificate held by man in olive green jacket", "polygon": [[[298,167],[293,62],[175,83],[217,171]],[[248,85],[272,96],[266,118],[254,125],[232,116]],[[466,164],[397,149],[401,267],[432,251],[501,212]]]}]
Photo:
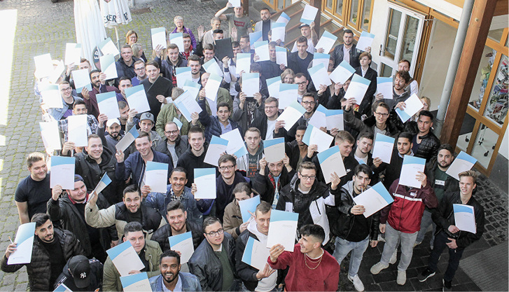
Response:
[{"label": "tilted blue-and-white certificate held by man in olive green jacket", "polygon": [[108,249],[106,253],[122,277],[127,276],[132,270],[139,271],[145,267],[129,240]]}]

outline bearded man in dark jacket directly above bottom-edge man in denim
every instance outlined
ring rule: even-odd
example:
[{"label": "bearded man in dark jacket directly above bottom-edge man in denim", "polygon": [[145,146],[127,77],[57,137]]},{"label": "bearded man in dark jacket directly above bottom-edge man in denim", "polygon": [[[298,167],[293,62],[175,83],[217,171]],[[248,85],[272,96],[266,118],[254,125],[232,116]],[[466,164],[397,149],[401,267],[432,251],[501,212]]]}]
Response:
[{"label": "bearded man in dark jacket directly above bottom-edge man in denim", "polygon": [[[194,199],[193,199],[194,200]],[[186,207],[179,200],[170,201],[166,207],[166,220],[168,224],[162,226],[154,232],[152,240],[159,243],[162,251],[169,251],[172,246],[169,246],[168,237],[191,232],[193,236],[193,246],[195,249],[200,245],[204,239],[202,235],[202,223],[195,223],[188,220],[188,212]],[[187,270],[187,265],[186,265]]]}]

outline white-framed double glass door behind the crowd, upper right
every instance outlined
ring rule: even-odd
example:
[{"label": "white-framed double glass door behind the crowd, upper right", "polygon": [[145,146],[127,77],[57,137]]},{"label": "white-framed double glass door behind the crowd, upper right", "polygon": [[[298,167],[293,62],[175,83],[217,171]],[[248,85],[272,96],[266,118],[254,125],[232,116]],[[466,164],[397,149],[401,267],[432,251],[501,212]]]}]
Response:
[{"label": "white-framed double glass door behind the crowd, upper right", "polygon": [[398,62],[403,59],[410,61],[410,75],[413,76],[423,24],[424,15],[389,3],[379,76],[389,77],[395,74],[398,71]]}]

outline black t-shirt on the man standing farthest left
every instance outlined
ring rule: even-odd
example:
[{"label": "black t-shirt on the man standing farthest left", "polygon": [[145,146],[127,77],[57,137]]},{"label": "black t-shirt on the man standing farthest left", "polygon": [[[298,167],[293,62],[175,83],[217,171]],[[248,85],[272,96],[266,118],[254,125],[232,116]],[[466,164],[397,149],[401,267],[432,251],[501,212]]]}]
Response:
[{"label": "black t-shirt on the man standing farthest left", "polygon": [[46,213],[46,203],[50,200],[50,174],[46,174],[46,178],[42,181],[34,181],[32,176],[27,176],[18,183],[14,200],[16,202],[27,202],[28,217],[32,220],[32,216],[37,213]]}]

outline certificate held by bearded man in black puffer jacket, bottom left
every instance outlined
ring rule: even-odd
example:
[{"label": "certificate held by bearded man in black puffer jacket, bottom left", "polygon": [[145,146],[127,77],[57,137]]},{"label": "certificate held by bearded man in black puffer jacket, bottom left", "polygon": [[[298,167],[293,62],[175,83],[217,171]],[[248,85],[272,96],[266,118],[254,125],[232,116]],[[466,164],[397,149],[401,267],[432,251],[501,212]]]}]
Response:
[{"label": "certificate held by bearded man in black puffer jacket, bottom left", "polygon": [[[73,166],[74,167],[74,166]],[[74,183],[73,183],[74,190]],[[16,250],[7,259],[8,265],[30,263],[32,261],[32,247],[34,246],[35,222],[25,223],[18,227],[14,242]]]}]

